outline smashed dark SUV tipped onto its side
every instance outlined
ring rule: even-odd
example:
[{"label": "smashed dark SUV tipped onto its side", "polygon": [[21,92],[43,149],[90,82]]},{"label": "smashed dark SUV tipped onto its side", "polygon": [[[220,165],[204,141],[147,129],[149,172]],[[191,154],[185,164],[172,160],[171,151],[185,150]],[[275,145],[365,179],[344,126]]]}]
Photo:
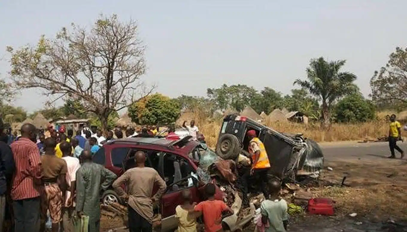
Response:
[{"label": "smashed dark SUV tipped onto its side", "polygon": [[247,155],[248,130],[255,130],[264,143],[274,176],[294,180],[298,176],[319,176],[324,166],[324,156],[319,145],[302,134],[277,132],[258,122],[239,115],[223,119],[216,153],[223,159],[236,160],[239,154]]}]

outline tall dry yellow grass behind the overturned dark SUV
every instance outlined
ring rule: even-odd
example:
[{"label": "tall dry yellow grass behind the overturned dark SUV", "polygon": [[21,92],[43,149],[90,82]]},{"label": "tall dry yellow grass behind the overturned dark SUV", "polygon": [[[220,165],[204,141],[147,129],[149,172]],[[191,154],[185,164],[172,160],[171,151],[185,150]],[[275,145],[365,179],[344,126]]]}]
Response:
[{"label": "tall dry yellow grass behind the overturned dark SUV", "polygon": [[[323,130],[320,124],[298,124],[288,121],[265,122],[266,126],[274,130],[286,133],[303,133],[305,137],[314,139],[317,142],[330,141],[351,141],[363,140],[366,138],[377,139],[386,136],[388,133],[388,124],[384,117],[388,114],[378,114],[378,120],[360,123],[360,124],[332,124],[328,130]],[[199,113],[195,113],[193,117],[199,127],[201,133],[205,135],[206,141],[210,147],[214,147],[217,142],[219,130],[221,128],[222,119],[203,118]],[[192,118],[191,118],[192,119]],[[190,119],[189,119],[190,120]]]}]

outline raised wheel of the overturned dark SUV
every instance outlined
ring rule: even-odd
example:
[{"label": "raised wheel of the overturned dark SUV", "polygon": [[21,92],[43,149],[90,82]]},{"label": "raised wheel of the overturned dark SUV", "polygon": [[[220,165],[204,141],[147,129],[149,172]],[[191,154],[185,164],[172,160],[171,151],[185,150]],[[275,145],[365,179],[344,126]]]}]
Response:
[{"label": "raised wheel of the overturned dark SUV", "polygon": [[218,139],[216,153],[225,160],[235,160],[239,156],[239,139],[233,134],[222,134]]}]

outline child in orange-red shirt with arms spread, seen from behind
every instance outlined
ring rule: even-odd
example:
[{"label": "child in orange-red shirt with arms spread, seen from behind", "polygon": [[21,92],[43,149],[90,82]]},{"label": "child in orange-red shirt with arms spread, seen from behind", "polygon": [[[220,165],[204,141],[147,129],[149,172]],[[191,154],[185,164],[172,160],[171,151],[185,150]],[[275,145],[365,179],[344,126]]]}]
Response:
[{"label": "child in orange-red shirt with arms spread, seen from behind", "polygon": [[234,213],[229,206],[223,201],[216,200],[215,185],[207,184],[205,186],[205,192],[208,200],[199,203],[195,206],[195,212],[202,212],[204,215],[205,232],[221,232],[222,230],[222,212],[229,211]]}]

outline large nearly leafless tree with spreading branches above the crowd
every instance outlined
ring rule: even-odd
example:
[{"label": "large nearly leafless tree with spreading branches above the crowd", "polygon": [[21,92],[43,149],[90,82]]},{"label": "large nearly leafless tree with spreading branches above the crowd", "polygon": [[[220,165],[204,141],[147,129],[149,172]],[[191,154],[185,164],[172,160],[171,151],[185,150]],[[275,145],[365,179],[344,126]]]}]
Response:
[{"label": "large nearly leafless tree with spreading branches above the crowd", "polygon": [[144,74],[145,46],[133,20],[120,22],[116,15],[100,15],[87,30],[71,24],[55,39],[42,36],[36,46],[11,53],[11,77],[20,88],[40,88],[44,95],[79,100],[98,115],[102,129],[107,118],[153,91],[140,77]]}]

